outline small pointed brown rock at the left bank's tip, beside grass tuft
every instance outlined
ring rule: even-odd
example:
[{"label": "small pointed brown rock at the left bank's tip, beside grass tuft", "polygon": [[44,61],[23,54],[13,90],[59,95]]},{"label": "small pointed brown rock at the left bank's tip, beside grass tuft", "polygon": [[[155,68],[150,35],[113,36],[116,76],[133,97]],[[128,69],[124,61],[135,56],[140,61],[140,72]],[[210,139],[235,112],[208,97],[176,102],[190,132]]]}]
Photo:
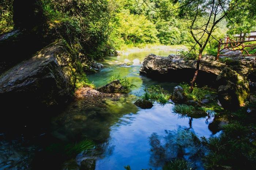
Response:
[{"label": "small pointed brown rock at the left bank's tip, beside grass tuft", "polygon": [[105,86],[98,88],[97,90],[103,93],[120,93],[123,92],[125,89],[119,80],[114,80],[106,84]]}]

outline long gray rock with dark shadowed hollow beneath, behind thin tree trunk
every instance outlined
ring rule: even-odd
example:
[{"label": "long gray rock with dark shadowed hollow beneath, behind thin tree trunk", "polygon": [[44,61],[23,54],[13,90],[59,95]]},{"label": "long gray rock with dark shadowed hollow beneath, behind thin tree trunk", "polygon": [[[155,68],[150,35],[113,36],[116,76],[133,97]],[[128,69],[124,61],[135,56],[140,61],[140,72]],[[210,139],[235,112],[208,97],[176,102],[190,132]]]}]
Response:
[{"label": "long gray rock with dark shadowed hollow beneath, behind thin tree trunk", "polygon": [[[212,84],[217,75],[221,73],[225,64],[215,60],[213,56],[204,56],[200,62],[199,82]],[[150,54],[146,56],[140,68],[140,74],[144,74],[156,79],[168,77],[172,82],[190,82],[196,69],[196,60],[185,60],[176,55],[168,57]]]}]

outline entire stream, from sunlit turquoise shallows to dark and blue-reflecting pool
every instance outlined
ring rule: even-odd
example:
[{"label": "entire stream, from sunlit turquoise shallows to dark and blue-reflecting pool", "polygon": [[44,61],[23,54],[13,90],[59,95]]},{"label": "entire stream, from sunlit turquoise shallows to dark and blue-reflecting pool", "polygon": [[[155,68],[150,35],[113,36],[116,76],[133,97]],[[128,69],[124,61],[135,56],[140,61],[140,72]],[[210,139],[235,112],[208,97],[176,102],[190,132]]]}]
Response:
[{"label": "entire stream, from sunlit turquoise shallows to dark and blue-reflecting pool", "polygon": [[[182,117],[172,110],[172,103],[162,106],[155,102],[153,108],[146,110],[133,104],[148,86],[161,85],[169,92],[177,86],[177,83],[159,82],[139,75],[141,64],[120,66],[124,59],[143,61],[150,53],[167,56],[175,52],[144,51],[127,56],[106,56],[101,61],[104,68],[88,75],[89,80],[100,87],[108,83],[111,76],[120,73],[121,77],[126,76],[136,85],[130,92],[135,96],[107,100],[94,108],[83,107],[82,100],[71,103],[50,120],[45,127],[47,130],[41,128],[42,134],[35,135],[37,140],[32,140],[32,144],[20,139],[10,142],[3,137],[5,134],[0,134],[0,169],[27,169],[30,165],[33,169],[83,169],[84,161],[88,159],[95,160],[96,170],[123,170],[127,165],[132,170],[161,169],[166,161],[181,157],[192,161],[197,169],[203,169],[200,158],[190,158],[196,149],[179,147],[178,142],[186,140],[179,134],[189,130],[199,137],[210,137],[212,133],[208,124],[213,117]],[[77,143],[83,139],[92,140],[95,148],[69,155],[68,158],[63,158],[59,151],[54,150],[60,143]],[[25,144],[19,146],[20,142]]]}]

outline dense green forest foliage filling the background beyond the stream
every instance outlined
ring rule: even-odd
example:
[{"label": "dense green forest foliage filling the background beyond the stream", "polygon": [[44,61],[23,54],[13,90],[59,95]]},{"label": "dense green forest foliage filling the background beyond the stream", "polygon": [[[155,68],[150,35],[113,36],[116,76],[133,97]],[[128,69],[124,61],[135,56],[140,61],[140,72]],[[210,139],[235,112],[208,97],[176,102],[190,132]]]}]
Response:
[{"label": "dense green forest foliage filling the background beyond the stream", "polygon": [[[174,10],[182,3],[179,1],[175,4],[169,0],[44,0],[37,3],[40,3],[40,9],[37,9],[41,10],[41,14],[38,14],[41,16],[37,16],[40,18],[36,19],[37,23],[25,21],[27,25],[23,23],[24,28],[31,24],[43,24],[44,29],[54,29],[67,41],[74,41],[77,37],[85,53],[93,57],[133,46],[143,47],[145,44],[189,46],[194,43],[188,22],[181,16],[182,11]],[[29,6],[24,11],[26,8]],[[22,15],[26,17],[31,14]],[[0,33],[12,30],[15,20],[12,20],[14,12],[11,0],[1,2],[0,15]],[[246,13],[240,13],[232,20],[236,20],[236,25],[229,20],[218,23],[218,28],[212,33],[214,38],[209,40],[206,48],[210,54],[216,53],[218,44],[215,39],[219,40],[226,34],[249,33],[255,29],[255,20]],[[207,18],[201,17],[196,24],[199,26],[205,21]]]}]

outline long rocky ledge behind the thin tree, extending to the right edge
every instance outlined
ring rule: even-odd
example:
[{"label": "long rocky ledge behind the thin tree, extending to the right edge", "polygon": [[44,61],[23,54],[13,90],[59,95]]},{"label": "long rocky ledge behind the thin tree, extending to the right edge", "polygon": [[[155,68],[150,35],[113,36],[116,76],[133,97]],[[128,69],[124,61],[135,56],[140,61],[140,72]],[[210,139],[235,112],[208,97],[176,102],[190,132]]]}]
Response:
[{"label": "long rocky ledge behind the thin tree, extending to the right edge", "polygon": [[[254,58],[234,57],[231,61],[232,64],[227,64],[216,61],[214,56],[203,56],[200,60],[197,83],[212,85],[222,70],[231,66],[232,70],[255,82],[256,78],[252,76],[255,75]],[[165,80],[169,78],[172,82],[190,82],[196,69],[196,62],[196,60],[186,60],[177,55],[162,57],[150,54],[144,59],[140,74]]]}]

